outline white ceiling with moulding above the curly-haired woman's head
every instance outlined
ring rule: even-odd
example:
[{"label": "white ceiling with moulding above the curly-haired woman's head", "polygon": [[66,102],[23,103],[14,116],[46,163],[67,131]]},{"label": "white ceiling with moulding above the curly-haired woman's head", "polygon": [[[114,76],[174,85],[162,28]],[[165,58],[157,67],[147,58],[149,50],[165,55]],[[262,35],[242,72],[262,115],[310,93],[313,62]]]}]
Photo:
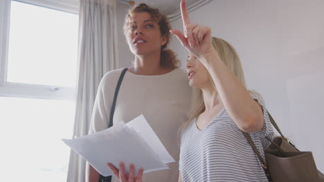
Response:
[{"label": "white ceiling with moulding above the curly-haired woman's head", "polygon": [[[129,3],[129,0],[117,0],[121,3]],[[195,10],[211,0],[186,0],[188,11]],[[134,0],[137,3],[146,3],[148,6],[159,8],[161,13],[167,15],[170,21],[174,21],[181,17],[180,0]]]}]

